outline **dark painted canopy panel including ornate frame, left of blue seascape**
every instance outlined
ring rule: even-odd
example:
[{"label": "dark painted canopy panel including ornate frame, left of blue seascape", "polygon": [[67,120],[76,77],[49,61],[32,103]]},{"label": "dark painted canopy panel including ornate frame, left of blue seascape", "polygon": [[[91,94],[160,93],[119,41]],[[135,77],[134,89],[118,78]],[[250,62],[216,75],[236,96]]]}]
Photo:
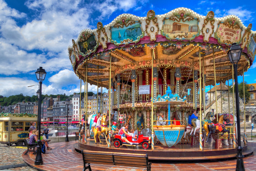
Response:
[{"label": "dark painted canopy panel including ornate frame, left of blue seascape", "polygon": [[98,43],[96,42],[96,39],[92,33],[81,32],[78,42],[81,55],[83,56],[95,52],[98,47]]}]

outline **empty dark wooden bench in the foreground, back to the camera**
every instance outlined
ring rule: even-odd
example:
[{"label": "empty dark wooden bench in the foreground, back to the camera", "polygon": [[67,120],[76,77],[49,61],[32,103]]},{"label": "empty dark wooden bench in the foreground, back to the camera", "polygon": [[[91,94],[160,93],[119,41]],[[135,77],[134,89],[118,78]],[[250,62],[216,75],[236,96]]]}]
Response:
[{"label": "empty dark wooden bench in the foreground, back to the camera", "polygon": [[[148,154],[113,154],[110,152],[81,151],[84,161],[84,169],[90,168],[90,163],[103,165],[122,165],[151,170],[151,162],[148,162]],[[87,166],[86,166],[87,164]]]}]

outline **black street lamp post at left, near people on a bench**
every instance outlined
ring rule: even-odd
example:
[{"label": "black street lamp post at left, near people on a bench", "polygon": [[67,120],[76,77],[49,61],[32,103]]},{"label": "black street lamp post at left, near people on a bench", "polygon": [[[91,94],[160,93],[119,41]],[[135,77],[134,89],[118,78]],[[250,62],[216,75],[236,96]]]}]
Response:
[{"label": "black street lamp post at left, near people on a bench", "polygon": [[35,157],[35,165],[42,165],[43,158],[42,158],[42,151],[41,151],[41,96],[42,96],[42,82],[44,81],[46,72],[43,67],[39,67],[35,72],[36,78],[39,81],[39,90],[37,91],[38,95],[38,145],[37,145],[37,153]]}]

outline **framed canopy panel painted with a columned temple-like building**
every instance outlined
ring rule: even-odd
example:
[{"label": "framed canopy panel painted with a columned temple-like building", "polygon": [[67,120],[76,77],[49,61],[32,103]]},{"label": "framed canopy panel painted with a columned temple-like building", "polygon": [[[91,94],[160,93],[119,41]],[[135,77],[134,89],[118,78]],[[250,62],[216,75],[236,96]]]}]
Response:
[{"label": "framed canopy panel painted with a columned temple-like building", "polygon": [[180,11],[163,20],[162,35],[168,40],[193,40],[200,33],[198,18],[192,17],[190,13]]}]

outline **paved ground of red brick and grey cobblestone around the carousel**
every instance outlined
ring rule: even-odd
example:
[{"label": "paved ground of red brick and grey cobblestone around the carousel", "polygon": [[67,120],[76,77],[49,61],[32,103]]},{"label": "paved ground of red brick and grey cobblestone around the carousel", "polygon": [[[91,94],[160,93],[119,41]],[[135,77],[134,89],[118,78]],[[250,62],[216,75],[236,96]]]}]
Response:
[{"label": "paved ground of red brick and grey cobblestone around the carousel", "polygon": [[[35,166],[35,156],[32,152],[28,155],[23,155],[24,148],[14,148],[15,146],[7,147],[0,145],[0,167],[3,165],[22,164],[24,161],[32,167],[37,167],[44,171],[82,171],[83,161],[81,154],[77,153],[73,147],[76,141],[59,142],[50,144],[52,150],[49,154],[42,154],[44,165]],[[248,145],[253,146],[254,153],[249,157],[244,158],[244,167],[246,171],[255,171],[256,165],[256,142],[248,142]],[[20,168],[10,168],[6,171],[37,171],[38,169],[30,166]],[[113,165],[96,165],[91,164],[93,171],[145,171],[134,167],[122,167]],[[209,170],[209,171],[234,171],[236,170],[236,159],[222,161],[153,161],[151,171],[191,171],[191,170]]]}]

